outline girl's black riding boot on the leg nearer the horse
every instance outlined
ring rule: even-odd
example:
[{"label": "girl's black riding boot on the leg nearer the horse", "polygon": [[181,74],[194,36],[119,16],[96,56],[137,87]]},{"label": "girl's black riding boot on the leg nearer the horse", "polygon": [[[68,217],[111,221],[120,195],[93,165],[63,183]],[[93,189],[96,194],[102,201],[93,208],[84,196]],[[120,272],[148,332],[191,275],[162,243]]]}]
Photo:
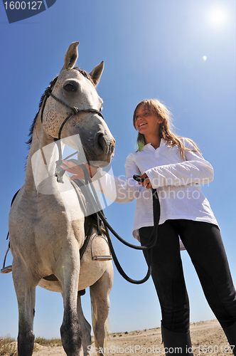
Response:
[{"label": "girl's black riding boot on the leg nearer the horse", "polygon": [[193,356],[193,347],[189,331],[188,333],[173,333],[173,331],[167,330],[161,325],[161,334],[166,356]]}]

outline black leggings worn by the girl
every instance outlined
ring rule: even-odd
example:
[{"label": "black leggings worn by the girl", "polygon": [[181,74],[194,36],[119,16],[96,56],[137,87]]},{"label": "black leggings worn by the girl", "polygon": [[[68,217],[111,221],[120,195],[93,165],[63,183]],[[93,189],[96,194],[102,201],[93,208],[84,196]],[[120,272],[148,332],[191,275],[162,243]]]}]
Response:
[{"label": "black leggings worn by the girl", "polygon": [[[152,226],[139,229],[146,245]],[[151,276],[161,304],[162,323],[168,330],[189,330],[189,303],[179,248],[181,237],[193,262],[210,308],[222,328],[236,322],[236,293],[218,226],[185,219],[167,220],[159,225],[158,239],[151,251]],[[151,256],[150,256],[151,254]]]}]

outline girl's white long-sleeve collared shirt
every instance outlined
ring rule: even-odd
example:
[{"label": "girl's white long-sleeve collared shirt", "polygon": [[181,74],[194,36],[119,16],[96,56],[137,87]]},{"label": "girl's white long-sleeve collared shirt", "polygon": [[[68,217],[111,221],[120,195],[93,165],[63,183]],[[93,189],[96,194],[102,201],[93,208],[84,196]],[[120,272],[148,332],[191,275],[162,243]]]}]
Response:
[{"label": "girl's white long-sleeve collared shirt", "polygon": [[[182,140],[186,148],[195,150],[189,140]],[[134,174],[141,175],[144,172],[159,195],[159,224],[168,219],[189,219],[218,225],[200,188],[200,184],[209,184],[213,180],[213,167],[199,152],[184,150],[183,160],[178,147],[168,145],[168,142],[161,139],[160,147],[156,150],[148,144],[142,151],[129,155],[125,163],[126,179],[101,171],[92,179],[95,188],[113,201],[127,203],[136,199],[133,226],[135,239],[139,240],[141,227],[154,226],[151,189],[139,186],[133,179]],[[102,189],[97,179],[100,179]]]}]

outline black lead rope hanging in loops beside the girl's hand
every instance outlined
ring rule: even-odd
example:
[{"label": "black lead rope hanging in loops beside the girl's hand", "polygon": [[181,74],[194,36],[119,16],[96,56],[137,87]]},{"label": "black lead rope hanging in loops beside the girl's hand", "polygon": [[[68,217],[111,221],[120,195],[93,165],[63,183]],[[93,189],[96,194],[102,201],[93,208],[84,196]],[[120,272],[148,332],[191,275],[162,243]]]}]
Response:
[{"label": "black lead rope hanging in loops beside the girl's hand", "polygon": [[[151,192],[153,195],[153,210],[154,210],[154,230],[150,236],[151,242],[146,245],[146,246],[136,246],[133,244],[129,244],[127,241],[125,241],[124,239],[122,239],[117,233],[116,231],[114,231],[114,229],[112,229],[112,226],[110,226],[107,222],[106,217],[104,216],[104,212],[102,210],[102,206],[100,204],[100,201],[97,197],[97,192],[95,190],[95,187],[92,184],[92,180],[90,179],[90,174],[87,171],[87,168],[85,167],[84,164],[81,164],[80,167],[82,168],[84,175],[85,175],[85,183],[86,184],[90,184],[90,187],[92,189],[92,194],[94,195],[95,199],[92,197],[92,194],[90,194],[90,200],[92,201],[93,206],[97,207],[97,214],[100,216],[100,219],[102,220],[103,224],[104,224],[104,228],[106,231],[106,235],[107,235],[107,241],[109,244],[109,248],[110,251],[112,253],[112,258],[114,260],[114,264],[117,267],[117,270],[119,271],[119,273],[122,275],[122,277],[128,281],[129,283],[133,283],[133,284],[141,284],[146,282],[149,277],[151,276],[151,248],[156,244],[156,240],[157,240],[157,229],[158,229],[158,225],[159,225],[159,219],[160,219],[160,203],[159,203],[159,198],[156,192],[156,189],[151,188]],[[134,177],[134,179],[139,180],[141,182],[141,179],[139,177]],[[139,280],[136,281],[132,278],[130,278],[129,276],[127,276],[127,274],[124,272],[124,270],[122,269],[122,266],[120,266],[120,263],[117,259],[116,253],[114,252],[114,248],[112,246],[112,240],[111,237],[109,236],[109,231],[112,232],[112,234],[117,237],[117,239],[119,239],[119,241],[121,241],[123,244],[125,244],[126,246],[129,246],[131,248],[134,248],[136,250],[149,250],[148,252],[148,258],[147,258],[147,263],[148,263],[148,271],[146,273],[146,276]]]}]

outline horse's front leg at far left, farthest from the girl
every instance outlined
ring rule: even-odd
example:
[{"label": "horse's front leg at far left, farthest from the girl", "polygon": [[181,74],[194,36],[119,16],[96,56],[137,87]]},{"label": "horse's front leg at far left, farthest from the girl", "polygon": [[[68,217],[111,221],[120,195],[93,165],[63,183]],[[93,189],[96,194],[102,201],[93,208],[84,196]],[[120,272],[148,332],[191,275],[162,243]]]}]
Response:
[{"label": "horse's front leg at far left, farthest from the girl", "polygon": [[31,356],[34,345],[33,317],[37,283],[33,281],[32,276],[28,276],[16,258],[12,264],[12,277],[18,301],[18,356]]}]

